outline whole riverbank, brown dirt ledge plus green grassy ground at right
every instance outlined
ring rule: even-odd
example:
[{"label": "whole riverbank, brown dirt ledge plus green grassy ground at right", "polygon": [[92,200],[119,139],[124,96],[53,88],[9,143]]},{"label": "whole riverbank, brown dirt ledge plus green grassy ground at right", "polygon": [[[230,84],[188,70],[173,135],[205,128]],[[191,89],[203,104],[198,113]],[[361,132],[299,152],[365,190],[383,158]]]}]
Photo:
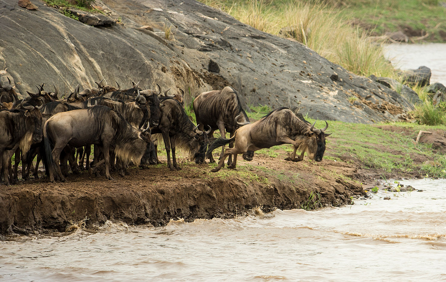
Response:
[{"label": "whole riverbank, brown dirt ledge plus green grassy ground at right", "polygon": [[[64,232],[72,222],[83,220],[90,228],[107,220],[164,226],[170,219],[244,216],[255,207],[268,212],[341,206],[363,196],[364,189],[382,178],[422,178],[431,176],[428,167],[442,169],[444,155],[437,145],[446,142],[444,130],[431,128],[433,133],[416,144],[419,127],[330,125],[335,134],[327,140],[319,163],[307,156],[298,163],[285,161],[292,147],[281,145],[257,151],[251,162],[239,158],[236,170],[216,173],[210,172],[213,165],[190,163],[180,153],[178,172],[169,171],[163,161],[147,169],[130,168],[124,178],[112,173],[115,181],[84,172],[70,174],[66,183],[29,180],[1,185],[0,234]],[[348,143],[361,138],[368,143]],[[376,151],[368,156],[372,147]],[[382,164],[374,163],[376,159]],[[394,163],[391,169],[388,162]]]}]

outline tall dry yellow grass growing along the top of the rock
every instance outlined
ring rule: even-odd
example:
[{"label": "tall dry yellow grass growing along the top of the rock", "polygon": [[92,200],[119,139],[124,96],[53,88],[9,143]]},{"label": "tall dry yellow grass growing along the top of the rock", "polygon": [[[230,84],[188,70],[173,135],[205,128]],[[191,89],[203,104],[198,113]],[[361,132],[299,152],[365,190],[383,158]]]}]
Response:
[{"label": "tall dry yellow grass growing along the top of the rock", "polygon": [[347,23],[339,10],[318,1],[202,0],[261,31],[280,34],[291,27],[293,38],[355,74],[395,77],[382,47]]}]

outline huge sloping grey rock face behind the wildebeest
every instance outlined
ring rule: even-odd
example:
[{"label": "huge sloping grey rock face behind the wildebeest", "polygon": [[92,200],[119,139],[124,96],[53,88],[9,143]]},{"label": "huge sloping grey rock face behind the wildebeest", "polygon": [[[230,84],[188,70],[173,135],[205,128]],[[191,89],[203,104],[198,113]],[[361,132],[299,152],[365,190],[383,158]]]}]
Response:
[{"label": "huge sloping grey rock face behind the wildebeest", "polygon": [[[14,78],[21,94],[44,82],[69,92],[105,78],[123,87],[140,81],[147,88],[155,83],[182,88],[186,104],[203,91],[230,85],[246,105],[298,106],[310,117],[345,122],[404,119],[412,109],[394,90],[305,45],[260,32],[202,3],[101,3],[118,24],[93,27],[40,1],[29,11],[17,1],[0,0],[0,70]],[[172,34],[166,36],[169,28]]]}]

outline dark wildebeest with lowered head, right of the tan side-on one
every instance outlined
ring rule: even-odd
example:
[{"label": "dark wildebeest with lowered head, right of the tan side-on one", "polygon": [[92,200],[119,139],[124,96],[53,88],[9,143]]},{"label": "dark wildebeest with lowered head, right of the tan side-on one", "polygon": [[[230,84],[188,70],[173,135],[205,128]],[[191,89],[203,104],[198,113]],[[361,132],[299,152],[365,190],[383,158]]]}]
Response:
[{"label": "dark wildebeest with lowered head, right of the tan side-on one", "polygon": [[[160,124],[153,128],[152,133],[161,133],[163,135],[167,153],[167,166],[169,169],[172,171],[181,169],[178,166],[175,156],[175,147],[177,144],[189,151],[191,161],[194,160],[195,163],[204,163],[204,155],[206,154],[207,144],[209,143],[207,134],[211,129],[209,131],[198,130],[177,100],[170,97],[161,97],[160,101],[165,106],[161,108]],[[173,165],[170,161],[171,149]]]}]

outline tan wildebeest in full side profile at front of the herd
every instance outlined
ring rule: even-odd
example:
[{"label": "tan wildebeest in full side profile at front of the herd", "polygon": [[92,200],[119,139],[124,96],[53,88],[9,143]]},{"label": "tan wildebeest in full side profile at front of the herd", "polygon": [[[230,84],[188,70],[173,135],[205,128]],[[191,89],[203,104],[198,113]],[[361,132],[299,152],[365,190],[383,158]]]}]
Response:
[{"label": "tan wildebeest in full side profile at front of the herd", "polygon": [[[99,146],[104,155],[105,176],[113,180],[110,175],[110,151],[114,151],[124,162],[132,161],[139,165],[151,142],[148,130],[149,127],[141,131],[132,126],[119,112],[107,106],[92,106],[53,115],[43,127],[50,181],[54,182],[54,174],[65,181],[59,159],[66,145],[82,147],[89,144]],[[54,144],[54,149],[51,148],[51,143]]]}]

